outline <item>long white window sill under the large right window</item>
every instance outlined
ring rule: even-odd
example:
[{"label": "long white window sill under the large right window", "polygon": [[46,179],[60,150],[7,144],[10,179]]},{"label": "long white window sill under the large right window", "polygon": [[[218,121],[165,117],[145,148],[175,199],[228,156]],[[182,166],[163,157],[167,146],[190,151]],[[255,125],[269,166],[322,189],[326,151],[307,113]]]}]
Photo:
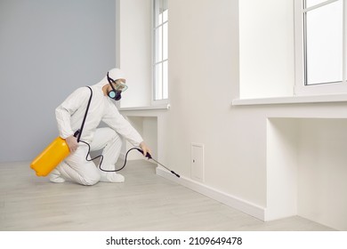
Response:
[{"label": "long white window sill under the large right window", "polygon": [[326,94],[311,96],[291,96],[276,98],[259,99],[236,99],[232,100],[233,106],[251,106],[251,105],[276,105],[276,104],[303,104],[303,103],[327,103],[327,102],[345,102],[347,94]]}]

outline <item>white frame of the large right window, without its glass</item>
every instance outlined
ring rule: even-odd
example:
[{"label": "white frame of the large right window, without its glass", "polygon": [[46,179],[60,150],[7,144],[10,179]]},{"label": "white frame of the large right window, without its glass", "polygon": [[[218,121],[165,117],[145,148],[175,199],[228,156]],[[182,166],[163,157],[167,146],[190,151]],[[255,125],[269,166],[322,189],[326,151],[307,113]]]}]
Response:
[{"label": "white frame of the large right window, without its glass", "polygon": [[[346,13],[347,0],[327,0],[320,4],[303,9],[305,0],[295,0],[295,95],[325,95],[336,93],[347,93],[346,81]],[[343,1],[343,80],[335,83],[306,84],[305,80],[305,36],[304,36],[304,17],[303,13],[308,10],[324,7],[337,1]]]}]

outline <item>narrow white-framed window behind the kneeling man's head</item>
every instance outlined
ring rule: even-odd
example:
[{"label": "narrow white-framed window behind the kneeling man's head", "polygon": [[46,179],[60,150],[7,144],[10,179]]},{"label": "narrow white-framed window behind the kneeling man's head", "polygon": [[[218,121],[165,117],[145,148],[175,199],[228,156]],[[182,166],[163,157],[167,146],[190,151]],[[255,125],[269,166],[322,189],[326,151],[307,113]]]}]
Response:
[{"label": "narrow white-framed window behind the kneeling man's head", "polygon": [[168,99],[168,9],[167,0],[154,0],[153,100]]}]

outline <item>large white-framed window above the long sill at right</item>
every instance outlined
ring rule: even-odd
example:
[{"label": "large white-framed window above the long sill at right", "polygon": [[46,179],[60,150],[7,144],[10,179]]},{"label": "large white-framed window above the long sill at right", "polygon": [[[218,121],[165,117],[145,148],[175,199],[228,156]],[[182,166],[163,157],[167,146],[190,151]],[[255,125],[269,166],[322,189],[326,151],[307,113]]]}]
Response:
[{"label": "large white-framed window above the long sill at right", "polygon": [[295,93],[347,92],[343,2],[295,1]]}]

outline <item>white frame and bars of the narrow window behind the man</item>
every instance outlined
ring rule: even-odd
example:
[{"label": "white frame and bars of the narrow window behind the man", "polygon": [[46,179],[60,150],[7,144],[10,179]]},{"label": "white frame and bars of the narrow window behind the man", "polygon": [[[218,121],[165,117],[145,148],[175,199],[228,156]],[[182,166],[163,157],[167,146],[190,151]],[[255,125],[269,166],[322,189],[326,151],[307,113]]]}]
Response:
[{"label": "white frame and bars of the narrow window behind the man", "polygon": [[[151,65],[151,70],[152,70],[152,95],[151,95],[151,105],[156,106],[156,105],[161,105],[161,104],[167,104],[169,102],[169,83],[168,83],[168,76],[167,76],[167,98],[164,99],[157,99],[156,100],[156,90],[157,90],[157,70],[156,66],[161,64],[161,88],[162,88],[162,96],[164,96],[164,63],[167,63],[167,75],[168,75],[168,63],[169,63],[169,55],[168,55],[168,37],[167,37],[167,58],[163,60],[163,54],[164,54],[164,43],[162,44],[162,58],[161,60],[156,61],[156,56],[157,56],[157,39],[156,39],[156,30],[157,28],[163,28],[164,25],[167,25],[167,32],[168,32],[168,23],[169,23],[169,17],[168,17],[168,12],[167,12],[167,20],[162,21],[161,24],[157,25],[156,24],[156,2],[161,1],[161,0],[152,0],[152,24],[151,24],[151,30],[152,30],[152,65]],[[168,10],[168,6],[167,6]],[[163,28],[164,29],[164,28]],[[164,42],[164,32],[162,31],[161,41]]]}]

